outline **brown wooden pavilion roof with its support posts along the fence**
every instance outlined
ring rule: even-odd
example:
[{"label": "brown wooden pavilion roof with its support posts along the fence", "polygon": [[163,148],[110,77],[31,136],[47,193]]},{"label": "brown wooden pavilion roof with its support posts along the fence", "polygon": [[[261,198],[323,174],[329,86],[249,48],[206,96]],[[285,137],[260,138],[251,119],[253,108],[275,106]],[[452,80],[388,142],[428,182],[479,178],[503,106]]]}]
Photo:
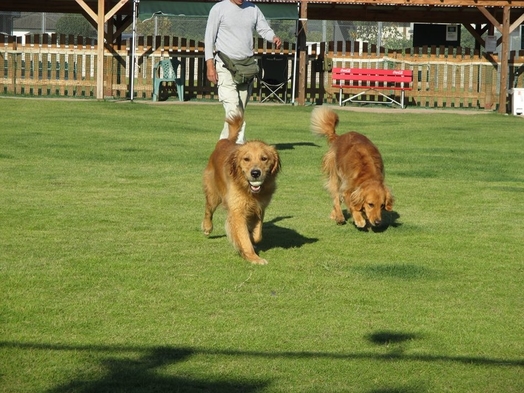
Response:
[{"label": "brown wooden pavilion roof with its support posts along the fence", "polygon": [[[251,0],[257,5],[297,6],[298,104],[305,102],[306,34],[308,20],[460,23],[485,45],[482,34],[500,33],[500,94],[498,111],[506,111],[509,73],[509,37],[524,23],[524,0]],[[0,11],[81,13],[97,29],[97,69],[104,69],[104,51],[128,28],[140,12],[173,4],[215,3],[217,0],[2,0]],[[179,3],[179,4],[178,4]],[[208,4],[209,5],[209,4]],[[144,10],[142,10],[144,8]],[[153,11],[153,12],[157,12]],[[97,73],[97,99],[103,99],[104,72]]]}]

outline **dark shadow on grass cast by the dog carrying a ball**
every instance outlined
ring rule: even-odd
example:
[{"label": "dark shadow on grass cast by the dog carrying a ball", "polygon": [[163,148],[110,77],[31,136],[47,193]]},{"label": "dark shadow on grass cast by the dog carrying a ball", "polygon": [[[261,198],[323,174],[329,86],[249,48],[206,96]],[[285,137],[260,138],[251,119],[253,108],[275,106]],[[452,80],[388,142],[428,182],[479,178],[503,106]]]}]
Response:
[{"label": "dark shadow on grass cast by the dog carrying a ball", "polygon": [[276,225],[277,222],[291,218],[291,216],[275,217],[264,223],[264,237],[257,245],[257,249],[267,251],[273,248],[298,248],[305,244],[316,243],[318,239],[308,238],[297,231]]}]

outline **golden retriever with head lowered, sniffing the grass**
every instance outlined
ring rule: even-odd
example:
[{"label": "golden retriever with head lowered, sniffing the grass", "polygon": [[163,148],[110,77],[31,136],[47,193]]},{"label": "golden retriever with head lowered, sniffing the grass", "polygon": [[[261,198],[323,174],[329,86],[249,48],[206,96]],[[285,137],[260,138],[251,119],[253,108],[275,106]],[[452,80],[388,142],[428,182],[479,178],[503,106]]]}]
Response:
[{"label": "golden retriever with head lowered, sniffing the grass", "polygon": [[327,176],[326,189],[333,199],[331,218],[344,224],[343,200],[358,228],[379,226],[382,210],[391,211],[393,196],[384,185],[384,164],[377,147],[364,135],[348,132],[337,135],[338,115],[319,107],[311,115],[311,130],[327,138],[329,150],[322,160]]}]

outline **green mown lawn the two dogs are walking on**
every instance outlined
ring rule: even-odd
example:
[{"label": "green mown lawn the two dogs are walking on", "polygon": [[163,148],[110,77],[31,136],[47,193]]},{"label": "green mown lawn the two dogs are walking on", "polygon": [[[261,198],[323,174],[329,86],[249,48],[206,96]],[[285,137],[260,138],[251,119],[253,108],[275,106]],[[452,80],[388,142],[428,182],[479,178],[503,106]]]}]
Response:
[{"label": "green mown lawn the two dogs are walking on", "polygon": [[1,392],[524,391],[522,118],[334,107],[396,198],[364,232],[312,107],[251,105],[282,160],[255,266],[200,231],[219,103],[0,104]]}]

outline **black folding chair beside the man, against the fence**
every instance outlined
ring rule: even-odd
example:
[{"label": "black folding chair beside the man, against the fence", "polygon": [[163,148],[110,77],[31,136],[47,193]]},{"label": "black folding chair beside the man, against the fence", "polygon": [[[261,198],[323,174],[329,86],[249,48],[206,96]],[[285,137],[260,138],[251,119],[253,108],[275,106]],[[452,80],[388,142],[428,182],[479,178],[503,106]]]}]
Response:
[{"label": "black folding chair beside the man, against the fence", "polygon": [[[265,102],[270,98],[276,98],[283,104],[286,103],[287,85],[291,76],[288,70],[288,61],[286,56],[262,56],[260,58],[260,69],[262,77],[260,78],[259,97],[262,99],[262,89],[269,90],[269,94],[261,101]],[[284,93],[282,99],[279,94]]]}]

